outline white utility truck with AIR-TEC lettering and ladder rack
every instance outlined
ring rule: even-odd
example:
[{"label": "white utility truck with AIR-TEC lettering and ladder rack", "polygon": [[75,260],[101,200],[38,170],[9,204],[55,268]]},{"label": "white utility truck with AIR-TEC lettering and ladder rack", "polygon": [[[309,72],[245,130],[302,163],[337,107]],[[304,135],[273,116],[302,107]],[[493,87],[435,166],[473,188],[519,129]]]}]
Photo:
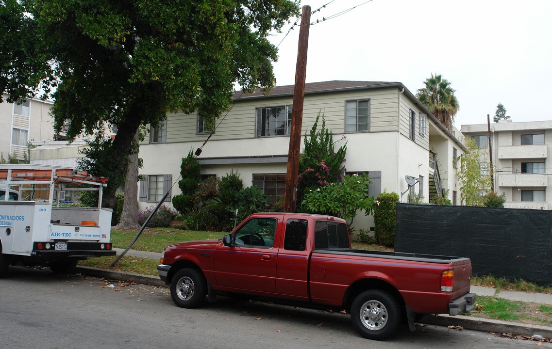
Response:
[{"label": "white utility truck with AIR-TEC lettering and ladder rack", "polygon": [[[73,168],[0,165],[0,277],[10,264],[75,269],[89,256],[115,255],[110,208],[102,208],[107,178]],[[98,207],[60,207],[71,191],[98,192]]]}]

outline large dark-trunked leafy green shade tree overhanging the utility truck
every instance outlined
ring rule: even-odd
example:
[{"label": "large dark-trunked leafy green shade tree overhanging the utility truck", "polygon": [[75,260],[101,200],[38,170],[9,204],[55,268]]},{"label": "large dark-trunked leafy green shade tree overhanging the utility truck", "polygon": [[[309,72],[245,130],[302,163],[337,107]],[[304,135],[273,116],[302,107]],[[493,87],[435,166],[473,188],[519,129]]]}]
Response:
[{"label": "large dark-trunked leafy green shade tree overhanging the utility truck", "polygon": [[113,207],[139,127],[169,111],[213,120],[235,82],[272,88],[277,49],[267,36],[296,13],[291,0],[3,0],[0,95],[28,98],[41,82],[56,130],[71,123],[68,137],[117,126],[84,164],[110,177],[104,205]]}]

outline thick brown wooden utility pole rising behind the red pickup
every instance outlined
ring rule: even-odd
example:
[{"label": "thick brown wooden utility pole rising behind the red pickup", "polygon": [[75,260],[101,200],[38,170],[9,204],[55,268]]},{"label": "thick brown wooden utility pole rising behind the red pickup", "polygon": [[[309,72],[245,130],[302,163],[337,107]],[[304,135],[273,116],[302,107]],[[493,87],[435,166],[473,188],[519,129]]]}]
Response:
[{"label": "thick brown wooden utility pole rising behind the red pickup", "polygon": [[311,7],[303,6],[297,66],[295,67],[295,88],[293,91],[293,109],[289,133],[288,171],[285,175],[284,212],[295,212],[297,178],[299,176],[299,150],[301,148],[301,126],[303,119],[303,101],[305,98],[305,76],[307,71],[307,49],[309,47]]}]

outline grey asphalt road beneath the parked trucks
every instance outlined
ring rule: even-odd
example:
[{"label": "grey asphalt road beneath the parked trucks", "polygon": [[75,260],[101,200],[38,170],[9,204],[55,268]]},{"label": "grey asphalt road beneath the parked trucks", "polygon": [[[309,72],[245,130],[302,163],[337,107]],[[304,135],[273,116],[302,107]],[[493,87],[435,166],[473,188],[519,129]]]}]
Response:
[{"label": "grey asphalt road beneath the parked trucks", "polygon": [[[113,285],[113,287],[110,287]],[[384,342],[348,315],[221,298],[176,307],[164,287],[10,268],[0,280],[0,348],[534,348],[535,342],[447,327],[402,326]],[[552,347],[542,343],[539,347]]]}]

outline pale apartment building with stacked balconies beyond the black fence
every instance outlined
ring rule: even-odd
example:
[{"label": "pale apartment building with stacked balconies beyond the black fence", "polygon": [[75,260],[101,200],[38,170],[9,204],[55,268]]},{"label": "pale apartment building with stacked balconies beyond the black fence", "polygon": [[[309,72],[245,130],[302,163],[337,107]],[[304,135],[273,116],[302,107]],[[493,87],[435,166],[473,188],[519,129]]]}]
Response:
[{"label": "pale apartment building with stacked balconies beyond the black fence", "polygon": [[[501,119],[491,125],[490,145],[495,191],[506,194],[505,207],[550,210],[552,208],[552,121],[512,122]],[[461,132],[484,149],[481,168],[488,173],[487,124],[462,125]]]}]

